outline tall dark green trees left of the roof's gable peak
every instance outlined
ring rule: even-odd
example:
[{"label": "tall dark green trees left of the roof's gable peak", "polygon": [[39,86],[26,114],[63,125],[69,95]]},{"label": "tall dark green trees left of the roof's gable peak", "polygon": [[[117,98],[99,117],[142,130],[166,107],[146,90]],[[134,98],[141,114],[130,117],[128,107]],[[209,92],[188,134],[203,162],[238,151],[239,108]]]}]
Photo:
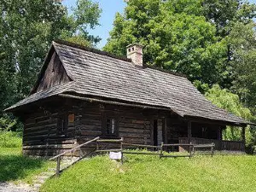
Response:
[{"label": "tall dark green trees left of the roof's gable peak", "polygon": [[99,25],[98,3],[78,0],[72,15],[52,0],[3,0],[0,4],[0,80],[3,108],[26,96],[55,38],[96,44],[88,28]]}]

